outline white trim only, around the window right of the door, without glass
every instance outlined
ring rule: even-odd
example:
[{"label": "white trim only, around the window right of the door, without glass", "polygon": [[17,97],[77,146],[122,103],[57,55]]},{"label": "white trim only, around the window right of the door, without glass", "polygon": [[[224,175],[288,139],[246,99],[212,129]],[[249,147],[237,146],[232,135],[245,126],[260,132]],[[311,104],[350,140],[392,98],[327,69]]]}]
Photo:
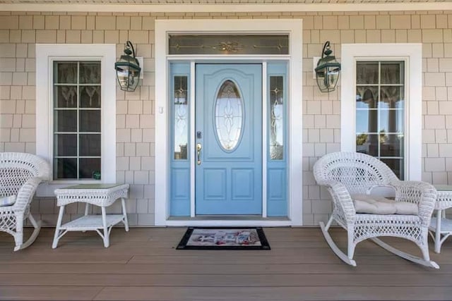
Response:
[{"label": "white trim only, around the window right of the door, without glass", "polygon": [[356,62],[405,61],[405,180],[421,180],[422,44],[343,44],[341,54],[341,150],[356,151]]}]

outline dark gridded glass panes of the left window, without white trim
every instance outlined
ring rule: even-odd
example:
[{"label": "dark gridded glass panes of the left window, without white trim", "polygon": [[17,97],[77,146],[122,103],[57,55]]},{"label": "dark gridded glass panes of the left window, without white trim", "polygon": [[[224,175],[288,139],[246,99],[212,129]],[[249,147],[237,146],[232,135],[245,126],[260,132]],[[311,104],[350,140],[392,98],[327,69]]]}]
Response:
[{"label": "dark gridded glass panes of the left window, without white trim", "polygon": [[100,180],[101,63],[54,61],[54,180]]}]

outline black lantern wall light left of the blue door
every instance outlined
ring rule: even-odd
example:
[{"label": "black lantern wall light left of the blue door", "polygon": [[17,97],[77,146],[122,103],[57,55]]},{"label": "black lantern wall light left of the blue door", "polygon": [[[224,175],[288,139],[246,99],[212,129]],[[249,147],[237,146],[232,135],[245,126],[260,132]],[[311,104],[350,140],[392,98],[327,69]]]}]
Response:
[{"label": "black lantern wall light left of the blue door", "polygon": [[140,82],[141,68],[140,63],[135,58],[135,49],[133,49],[133,44],[130,41],[126,42],[124,54],[119,61],[114,63],[114,69],[116,69],[121,90],[133,92]]}]

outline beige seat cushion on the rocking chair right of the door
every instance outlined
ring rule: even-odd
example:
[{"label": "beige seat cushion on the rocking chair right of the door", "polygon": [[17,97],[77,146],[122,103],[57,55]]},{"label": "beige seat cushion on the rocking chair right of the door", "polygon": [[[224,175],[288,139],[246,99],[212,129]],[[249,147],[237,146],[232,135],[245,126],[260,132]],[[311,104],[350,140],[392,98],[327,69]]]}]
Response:
[{"label": "beige seat cushion on the rocking chair right of the door", "polygon": [[378,195],[352,195],[355,211],[367,214],[406,214],[417,215],[417,204],[410,202],[397,202]]}]

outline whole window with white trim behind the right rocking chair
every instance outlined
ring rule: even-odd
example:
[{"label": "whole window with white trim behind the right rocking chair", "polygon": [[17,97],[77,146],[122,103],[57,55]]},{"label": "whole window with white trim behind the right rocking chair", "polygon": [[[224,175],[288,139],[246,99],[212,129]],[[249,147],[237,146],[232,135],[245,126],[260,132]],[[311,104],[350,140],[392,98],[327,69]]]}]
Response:
[{"label": "whole window with white trim behind the right rocking chair", "polygon": [[341,64],[341,149],[420,180],[421,44],[343,44]]}]

